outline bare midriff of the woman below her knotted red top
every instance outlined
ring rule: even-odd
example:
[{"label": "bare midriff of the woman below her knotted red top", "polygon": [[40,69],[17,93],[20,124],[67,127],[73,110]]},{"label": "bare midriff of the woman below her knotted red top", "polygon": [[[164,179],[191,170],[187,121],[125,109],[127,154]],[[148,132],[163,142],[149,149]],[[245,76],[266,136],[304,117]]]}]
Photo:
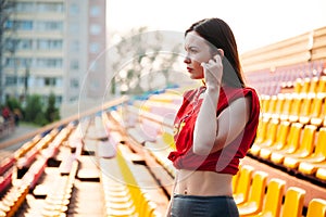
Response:
[{"label": "bare midriff of the woman below her knotted red top", "polygon": [[186,195],[233,195],[233,175],[202,170],[177,170],[175,194]]}]

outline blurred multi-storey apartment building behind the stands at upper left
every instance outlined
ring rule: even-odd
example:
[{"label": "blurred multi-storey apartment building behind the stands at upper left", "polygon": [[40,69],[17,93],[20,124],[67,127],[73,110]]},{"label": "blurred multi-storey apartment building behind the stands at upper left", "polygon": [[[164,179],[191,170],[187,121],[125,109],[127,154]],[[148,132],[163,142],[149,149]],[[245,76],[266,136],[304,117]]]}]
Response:
[{"label": "blurred multi-storey apartment building behind the stands at upper left", "polygon": [[[53,92],[58,104],[101,98],[105,88],[105,0],[12,0],[5,22],[5,98]],[[80,95],[82,94],[82,95]]]}]

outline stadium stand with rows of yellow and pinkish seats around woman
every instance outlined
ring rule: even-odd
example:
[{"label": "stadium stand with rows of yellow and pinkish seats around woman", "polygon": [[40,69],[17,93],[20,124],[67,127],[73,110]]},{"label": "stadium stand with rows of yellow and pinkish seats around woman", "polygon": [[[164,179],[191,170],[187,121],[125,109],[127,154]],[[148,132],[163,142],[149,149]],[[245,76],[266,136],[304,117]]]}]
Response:
[{"label": "stadium stand with rows of yellow and pinkish seats around woman", "polygon": [[[262,113],[233,179],[240,216],[326,216],[325,38],[321,28],[241,56]],[[1,144],[0,216],[163,216],[186,88],[112,100],[35,131],[14,152]]]}]

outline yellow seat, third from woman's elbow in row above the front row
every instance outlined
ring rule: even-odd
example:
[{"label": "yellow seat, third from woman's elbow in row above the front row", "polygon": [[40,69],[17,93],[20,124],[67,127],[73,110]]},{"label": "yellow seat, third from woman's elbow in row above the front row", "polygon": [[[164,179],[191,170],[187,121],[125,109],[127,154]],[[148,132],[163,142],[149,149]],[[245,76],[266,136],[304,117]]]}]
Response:
[{"label": "yellow seat, third from woman's elbow in row above the front row", "polygon": [[303,125],[300,123],[292,123],[288,140],[280,150],[273,150],[271,161],[275,164],[281,164],[286,155],[292,154],[299,146],[300,133]]}]

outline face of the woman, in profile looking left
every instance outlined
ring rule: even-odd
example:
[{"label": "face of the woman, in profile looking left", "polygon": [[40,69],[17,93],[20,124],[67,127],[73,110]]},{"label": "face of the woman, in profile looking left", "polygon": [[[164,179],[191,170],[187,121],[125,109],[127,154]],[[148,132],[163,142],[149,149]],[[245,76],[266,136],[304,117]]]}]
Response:
[{"label": "face of the woman, in profile looking left", "polygon": [[186,58],[184,63],[187,64],[187,71],[191,79],[202,79],[204,77],[203,68],[200,65],[212,59],[210,46],[205,39],[200,37],[196,31],[190,31],[185,38]]}]

